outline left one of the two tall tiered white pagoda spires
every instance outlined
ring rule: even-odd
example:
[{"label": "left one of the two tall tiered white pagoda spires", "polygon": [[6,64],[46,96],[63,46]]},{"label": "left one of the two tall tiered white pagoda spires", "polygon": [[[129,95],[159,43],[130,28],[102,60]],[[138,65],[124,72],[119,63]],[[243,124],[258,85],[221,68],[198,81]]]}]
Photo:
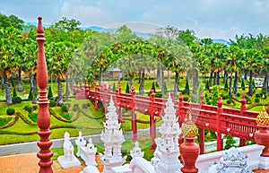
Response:
[{"label": "left one of the two tall tiered white pagoda spires", "polygon": [[105,130],[100,134],[100,140],[105,145],[104,154],[100,154],[100,159],[104,163],[103,173],[111,173],[112,168],[122,166],[126,162],[126,157],[121,156],[121,145],[125,142],[125,137],[118,123],[116,107],[111,97],[104,122]]}]

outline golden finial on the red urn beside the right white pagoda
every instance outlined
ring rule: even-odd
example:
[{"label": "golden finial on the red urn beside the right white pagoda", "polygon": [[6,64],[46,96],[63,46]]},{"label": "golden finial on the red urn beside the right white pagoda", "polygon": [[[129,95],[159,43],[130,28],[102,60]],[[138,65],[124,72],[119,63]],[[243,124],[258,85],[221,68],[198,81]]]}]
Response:
[{"label": "golden finial on the red urn beside the right white pagoda", "polygon": [[189,108],[187,123],[182,126],[182,133],[187,137],[195,137],[198,134],[198,128],[192,120],[191,108]]}]

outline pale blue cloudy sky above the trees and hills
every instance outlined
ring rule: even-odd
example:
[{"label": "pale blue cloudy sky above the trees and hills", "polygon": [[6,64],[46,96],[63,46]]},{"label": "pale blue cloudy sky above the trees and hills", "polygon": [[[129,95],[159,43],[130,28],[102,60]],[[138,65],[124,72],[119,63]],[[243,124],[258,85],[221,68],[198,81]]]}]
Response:
[{"label": "pale blue cloudy sky above the trees and hills", "polygon": [[67,17],[87,27],[111,28],[126,22],[140,23],[136,28],[170,25],[195,30],[200,39],[269,35],[269,0],[0,0],[0,13],[24,22],[37,22],[41,16],[45,24]]}]

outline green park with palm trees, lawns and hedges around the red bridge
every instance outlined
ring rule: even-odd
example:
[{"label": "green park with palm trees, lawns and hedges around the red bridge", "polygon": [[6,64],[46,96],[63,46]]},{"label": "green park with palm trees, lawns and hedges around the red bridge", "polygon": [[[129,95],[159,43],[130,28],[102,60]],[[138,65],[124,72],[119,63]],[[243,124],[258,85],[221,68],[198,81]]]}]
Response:
[{"label": "green park with palm trees, lawns and hedges around the red bridge", "polygon": [[[261,110],[263,96],[269,100],[269,37],[262,33],[236,35],[226,45],[173,26],[144,39],[126,26],[100,32],[80,25],[64,17],[44,30],[51,138],[63,137],[65,131],[72,136],[78,131],[100,134],[104,110],[95,111],[90,100],[75,100],[71,90],[85,84],[94,90],[96,82],[109,82],[113,91],[120,86],[126,93],[134,87],[140,95],[153,89],[155,97],[162,98],[173,90],[176,99],[181,92],[185,101],[193,102],[203,91],[205,104],[216,105],[221,96],[229,108],[239,108],[245,94],[247,109],[255,111]],[[0,13],[0,144],[39,139],[36,29],[17,16]],[[116,67],[122,77],[108,75]],[[264,78],[262,87],[255,86],[255,77]],[[131,130],[129,116],[126,111],[124,130]],[[148,121],[148,116],[139,115],[138,128],[147,128]],[[207,134],[206,139],[213,140]]]}]

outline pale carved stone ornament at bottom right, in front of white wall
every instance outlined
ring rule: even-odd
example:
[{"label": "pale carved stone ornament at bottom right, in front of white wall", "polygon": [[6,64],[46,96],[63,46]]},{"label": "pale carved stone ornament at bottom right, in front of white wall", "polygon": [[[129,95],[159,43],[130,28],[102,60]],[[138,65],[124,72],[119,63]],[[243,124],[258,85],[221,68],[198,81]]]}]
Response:
[{"label": "pale carved stone ornament at bottom right, in front of white wall", "polygon": [[216,165],[209,168],[209,173],[232,173],[244,172],[250,173],[252,170],[247,165],[247,159],[236,148],[232,147],[228,151],[224,151],[221,160]]}]

